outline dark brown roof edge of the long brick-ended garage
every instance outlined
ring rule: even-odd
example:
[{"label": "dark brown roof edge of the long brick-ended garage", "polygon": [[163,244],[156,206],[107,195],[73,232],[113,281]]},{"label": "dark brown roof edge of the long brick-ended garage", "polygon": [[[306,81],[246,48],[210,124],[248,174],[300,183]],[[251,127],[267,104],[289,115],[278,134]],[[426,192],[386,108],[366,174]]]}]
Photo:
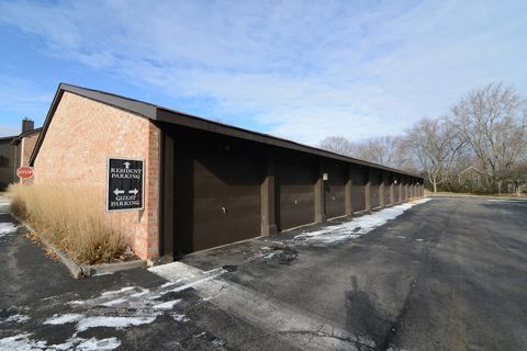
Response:
[{"label": "dark brown roof edge of the long brick-ended garage", "polygon": [[159,122],[171,123],[171,124],[177,124],[181,126],[193,127],[193,128],[203,129],[212,133],[249,139],[249,140],[254,140],[254,141],[262,143],[267,145],[272,145],[272,146],[299,150],[299,151],[303,151],[312,155],[328,157],[328,158],[333,158],[341,161],[352,162],[352,163],[362,165],[362,166],[370,166],[378,169],[389,170],[389,171],[397,172],[401,174],[407,174],[407,176],[416,177],[421,179],[423,178],[418,174],[414,174],[411,172],[355,159],[348,156],[330,152],[330,151],[318,149],[312,146],[302,145],[295,141],[274,137],[268,134],[251,132],[251,131],[247,131],[236,126],[231,126],[223,123],[209,121],[209,120],[194,116],[191,114],[187,114],[183,112],[158,106],[156,104],[124,98],[124,97],[108,93],[104,91],[92,90],[92,89],[76,87],[76,86],[66,84],[66,83],[60,83],[57,88],[57,92],[55,93],[55,98],[53,99],[52,105],[46,116],[46,121],[44,122],[44,125],[42,127],[42,133],[40,134],[35,148],[33,149],[33,154],[31,155],[31,158],[30,158],[31,166],[34,165],[36,155],[38,154],[42,143],[46,137],[46,132],[47,132],[47,128],[49,127],[53,115],[55,114],[55,111],[65,91],[87,98],[87,99],[91,99],[104,104],[109,104],[122,110],[130,111],[132,113],[135,113],[142,117],[145,117],[152,121],[159,121]]}]

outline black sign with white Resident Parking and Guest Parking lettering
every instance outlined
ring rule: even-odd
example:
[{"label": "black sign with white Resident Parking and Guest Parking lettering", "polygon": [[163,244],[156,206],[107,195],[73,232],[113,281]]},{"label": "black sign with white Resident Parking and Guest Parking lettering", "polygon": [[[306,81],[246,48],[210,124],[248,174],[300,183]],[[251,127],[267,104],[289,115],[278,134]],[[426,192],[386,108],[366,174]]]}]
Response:
[{"label": "black sign with white Resident Parking and Guest Parking lettering", "polygon": [[144,160],[109,158],[106,211],[144,210]]}]

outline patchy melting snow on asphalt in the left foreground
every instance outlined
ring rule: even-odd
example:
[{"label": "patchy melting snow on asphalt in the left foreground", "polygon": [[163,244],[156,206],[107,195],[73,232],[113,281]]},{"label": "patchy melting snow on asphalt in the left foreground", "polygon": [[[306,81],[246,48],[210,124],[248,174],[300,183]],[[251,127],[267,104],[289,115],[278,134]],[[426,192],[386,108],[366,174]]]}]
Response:
[{"label": "patchy melting snow on asphalt in the left foreground", "polygon": [[[152,269],[155,270],[156,268]],[[162,268],[157,268],[162,270]],[[167,298],[169,293],[177,293],[213,280],[225,273],[223,269],[197,274],[184,271],[177,282],[169,282],[154,288],[142,286],[126,286],[120,290],[102,292],[98,296],[70,301],[67,305],[70,310],[65,314],[55,314],[43,321],[44,325],[61,326],[75,324],[74,333],[60,344],[47,344],[46,340],[36,340],[32,333],[23,332],[18,336],[0,339],[0,350],[113,350],[121,346],[115,337],[98,340],[83,339],[79,332],[91,328],[125,329],[152,324],[158,316],[167,314],[176,322],[187,322],[189,318],[180,312],[173,310],[181,298]],[[12,315],[0,322],[25,322],[30,318],[24,315]]]}]

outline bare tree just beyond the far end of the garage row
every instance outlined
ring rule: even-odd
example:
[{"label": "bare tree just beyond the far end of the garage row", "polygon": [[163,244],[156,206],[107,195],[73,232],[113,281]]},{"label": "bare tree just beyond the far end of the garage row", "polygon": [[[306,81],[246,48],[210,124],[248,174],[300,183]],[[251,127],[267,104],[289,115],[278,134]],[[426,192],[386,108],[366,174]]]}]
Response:
[{"label": "bare tree just beyond the far end of the garage row", "polygon": [[464,139],[445,118],[423,118],[406,131],[405,144],[411,149],[437,192],[449,179],[453,163],[459,159]]}]

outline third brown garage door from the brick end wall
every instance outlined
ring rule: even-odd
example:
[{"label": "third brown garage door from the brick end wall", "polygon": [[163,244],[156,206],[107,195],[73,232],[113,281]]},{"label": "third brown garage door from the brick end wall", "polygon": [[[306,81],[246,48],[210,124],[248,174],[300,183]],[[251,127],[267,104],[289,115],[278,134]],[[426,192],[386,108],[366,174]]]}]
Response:
[{"label": "third brown garage door from the brick end wall", "polygon": [[324,171],[329,179],[324,182],[326,217],[334,218],[346,214],[347,167],[345,165],[326,165]]}]

